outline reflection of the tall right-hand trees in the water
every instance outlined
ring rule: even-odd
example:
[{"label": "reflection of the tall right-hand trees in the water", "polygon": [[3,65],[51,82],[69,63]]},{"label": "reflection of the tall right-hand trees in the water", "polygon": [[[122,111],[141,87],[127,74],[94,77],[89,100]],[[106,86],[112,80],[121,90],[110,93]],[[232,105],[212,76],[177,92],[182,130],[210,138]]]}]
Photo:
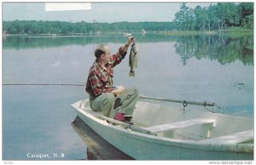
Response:
[{"label": "reflection of the tall right-hand trees in the water", "polygon": [[218,60],[222,65],[241,60],[244,65],[253,65],[253,35],[183,36],[175,44],[183,65],[195,57],[197,60]]}]

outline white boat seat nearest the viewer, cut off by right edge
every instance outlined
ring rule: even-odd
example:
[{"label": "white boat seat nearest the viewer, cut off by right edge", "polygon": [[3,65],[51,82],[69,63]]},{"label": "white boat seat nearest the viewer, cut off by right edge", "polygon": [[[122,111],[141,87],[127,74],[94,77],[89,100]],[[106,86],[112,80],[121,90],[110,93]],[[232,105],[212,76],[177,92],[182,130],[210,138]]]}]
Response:
[{"label": "white boat seat nearest the viewer, cut off by right edge", "polygon": [[203,139],[201,143],[212,143],[212,144],[237,144],[246,142],[253,139],[253,129],[246,131],[241,131],[235,134],[228,134],[224,136],[219,136],[212,139]]}]

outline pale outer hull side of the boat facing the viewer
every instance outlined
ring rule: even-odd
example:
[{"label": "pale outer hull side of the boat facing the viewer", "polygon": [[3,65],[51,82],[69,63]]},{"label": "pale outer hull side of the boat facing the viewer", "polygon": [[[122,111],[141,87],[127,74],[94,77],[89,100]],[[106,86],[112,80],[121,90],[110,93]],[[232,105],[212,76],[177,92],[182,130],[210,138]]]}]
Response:
[{"label": "pale outer hull side of the boat facing the viewer", "polygon": [[78,116],[96,134],[137,160],[253,160],[253,152],[236,152],[237,146],[200,145],[166,139],[116,127],[75,108]]}]

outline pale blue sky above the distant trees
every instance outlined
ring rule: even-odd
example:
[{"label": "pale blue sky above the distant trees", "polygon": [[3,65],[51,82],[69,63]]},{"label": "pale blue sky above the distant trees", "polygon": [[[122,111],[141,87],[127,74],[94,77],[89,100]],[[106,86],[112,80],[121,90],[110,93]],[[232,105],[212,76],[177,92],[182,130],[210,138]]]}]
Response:
[{"label": "pale blue sky above the distant trees", "polygon": [[[197,5],[211,3],[187,3],[194,9]],[[59,20],[68,22],[137,22],[172,21],[181,3],[90,3],[90,9],[45,11],[45,3],[2,3],[3,20]]]}]

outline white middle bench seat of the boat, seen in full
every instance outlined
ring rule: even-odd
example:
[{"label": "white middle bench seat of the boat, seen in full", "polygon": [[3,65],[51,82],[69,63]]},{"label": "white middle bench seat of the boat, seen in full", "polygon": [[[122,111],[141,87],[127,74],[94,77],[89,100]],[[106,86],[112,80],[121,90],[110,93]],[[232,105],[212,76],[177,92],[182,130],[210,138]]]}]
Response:
[{"label": "white middle bench seat of the boat, seen in full", "polygon": [[181,122],[172,122],[172,123],[156,125],[156,126],[152,126],[144,129],[147,129],[152,133],[159,133],[159,132],[169,131],[177,128],[186,128],[189,126],[193,126],[195,124],[212,124],[212,127],[215,127],[215,120],[209,119],[209,118],[195,118],[195,119],[185,120]]}]

